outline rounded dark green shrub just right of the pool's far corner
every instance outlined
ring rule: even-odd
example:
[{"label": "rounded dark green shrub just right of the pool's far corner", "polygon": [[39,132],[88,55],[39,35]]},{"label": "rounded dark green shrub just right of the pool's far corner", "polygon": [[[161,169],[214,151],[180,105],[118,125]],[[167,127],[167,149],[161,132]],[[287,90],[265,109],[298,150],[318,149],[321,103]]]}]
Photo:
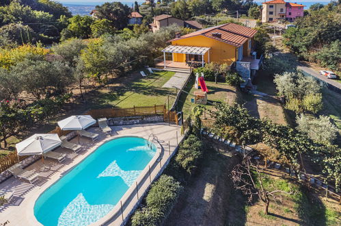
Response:
[{"label": "rounded dark green shrub just right of the pool's far corner", "polygon": [[180,146],[176,162],[188,173],[193,173],[197,167],[197,162],[202,157],[202,142],[194,136],[190,135]]}]

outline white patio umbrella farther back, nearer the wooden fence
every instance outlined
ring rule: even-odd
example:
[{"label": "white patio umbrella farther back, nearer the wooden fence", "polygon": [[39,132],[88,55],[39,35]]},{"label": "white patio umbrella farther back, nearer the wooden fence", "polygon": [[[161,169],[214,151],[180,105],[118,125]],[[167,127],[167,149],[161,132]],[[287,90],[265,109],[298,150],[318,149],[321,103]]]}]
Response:
[{"label": "white patio umbrella farther back, nearer the wooden fence", "polygon": [[90,125],[94,125],[96,120],[90,115],[73,115],[58,122],[62,130],[77,130],[79,142],[79,130],[86,129]]}]

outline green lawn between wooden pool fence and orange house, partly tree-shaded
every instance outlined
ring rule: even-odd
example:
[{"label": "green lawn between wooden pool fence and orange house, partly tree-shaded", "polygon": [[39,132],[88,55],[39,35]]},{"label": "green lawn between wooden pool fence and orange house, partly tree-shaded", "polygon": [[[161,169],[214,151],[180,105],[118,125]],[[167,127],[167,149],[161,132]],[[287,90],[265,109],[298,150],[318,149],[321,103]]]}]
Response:
[{"label": "green lawn between wooden pool fence and orange house, partly tree-shaded", "polygon": [[[120,107],[130,108],[146,105],[163,105],[167,103],[167,95],[174,95],[175,90],[171,88],[162,88],[174,72],[158,71],[148,77],[136,75],[137,79],[124,81],[116,86],[102,88],[92,95],[91,108]],[[174,99],[169,99],[169,105],[172,105]]]}]

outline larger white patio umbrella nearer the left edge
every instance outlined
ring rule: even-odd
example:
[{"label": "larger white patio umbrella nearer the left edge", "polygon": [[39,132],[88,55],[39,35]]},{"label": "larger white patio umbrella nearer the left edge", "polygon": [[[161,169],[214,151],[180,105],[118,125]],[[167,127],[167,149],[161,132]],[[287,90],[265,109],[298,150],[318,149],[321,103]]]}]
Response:
[{"label": "larger white patio umbrella nearer the left edge", "polygon": [[[58,134],[34,134],[26,140],[16,144],[16,151],[19,155],[42,155],[48,151],[59,147],[62,140],[59,139]],[[44,158],[42,158],[44,162]]]}]

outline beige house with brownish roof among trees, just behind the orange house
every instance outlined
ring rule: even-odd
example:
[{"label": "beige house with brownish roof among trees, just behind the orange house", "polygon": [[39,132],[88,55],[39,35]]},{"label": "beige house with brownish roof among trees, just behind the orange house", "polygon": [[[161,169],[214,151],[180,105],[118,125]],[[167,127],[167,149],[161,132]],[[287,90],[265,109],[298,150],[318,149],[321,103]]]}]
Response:
[{"label": "beige house with brownish roof among trees, just behind the orange house", "polygon": [[170,16],[167,14],[162,14],[159,16],[154,16],[153,23],[150,23],[150,27],[152,28],[152,32],[158,31],[161,27],[168,27],[169,25],[176,24],[180,27],[191,27],[194,29],[202,29],[202,25],[197,23],[197,21],[182,21],[179,18],[174,16]]}]

